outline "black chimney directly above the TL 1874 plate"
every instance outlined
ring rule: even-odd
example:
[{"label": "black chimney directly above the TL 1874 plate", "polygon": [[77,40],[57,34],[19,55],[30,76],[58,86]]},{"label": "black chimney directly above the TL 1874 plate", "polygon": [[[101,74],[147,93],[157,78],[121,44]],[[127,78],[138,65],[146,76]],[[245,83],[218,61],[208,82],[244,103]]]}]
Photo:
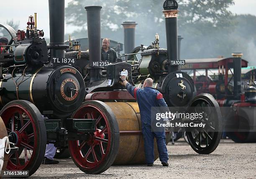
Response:
[{"label": "black chimney directly above the TL 1874 plate", "polygon": [[50,46],[51,57],[64,57],[64,13],[65,0],[49,0]]}]

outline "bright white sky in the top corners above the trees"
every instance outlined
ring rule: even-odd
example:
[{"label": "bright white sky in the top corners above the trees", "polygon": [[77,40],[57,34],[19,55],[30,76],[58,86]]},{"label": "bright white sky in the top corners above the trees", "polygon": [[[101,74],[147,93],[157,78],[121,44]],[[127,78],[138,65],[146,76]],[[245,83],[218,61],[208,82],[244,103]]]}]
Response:
[{"label": "bright white sky in the top corners above the trees", "polygon": [[[36,0],[38,6],[31,5],[31,0],[8,0],[8,5],[1,8],[0,23],[5,23],[6,20],[13,19],[19,21],[20,30],[26,29],[26,22],[28,16],[33,13],[38,13],[39,29],[44,29],[45,37],[49,37],[49,12],[48,12],[48,0]],[[66,0],[67,3],[72,0]],[[35,2],[35,1],[33,1]],[[3,3],[2,3],[3,5]],[[28,6],[26,6],[28,5]],[[32,8],[33,7],[33,8]],[[22,9],[22,10],[21,10]],[[236,14],[252,14],[256,15],[256,0],[235,0],[235,5],[230,7],[230,10]],[[85,13],[85,10],[84,10]],[[65,33],[71,33],[76,27],[65,26]]]}]

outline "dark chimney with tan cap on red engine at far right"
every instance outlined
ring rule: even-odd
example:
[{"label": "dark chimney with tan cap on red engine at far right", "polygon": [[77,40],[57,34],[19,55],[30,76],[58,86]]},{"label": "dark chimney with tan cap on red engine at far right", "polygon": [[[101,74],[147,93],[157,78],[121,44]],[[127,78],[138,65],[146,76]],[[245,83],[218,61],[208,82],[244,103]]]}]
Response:
[{"label": "dark chimney with tan cap on red engine at far right", "polygon": [[233,69],[234,69],[234,96],[240,97],[241,93],[241,68],[242,68],[242,56],[241,53],[234,53],[233,56]]}]

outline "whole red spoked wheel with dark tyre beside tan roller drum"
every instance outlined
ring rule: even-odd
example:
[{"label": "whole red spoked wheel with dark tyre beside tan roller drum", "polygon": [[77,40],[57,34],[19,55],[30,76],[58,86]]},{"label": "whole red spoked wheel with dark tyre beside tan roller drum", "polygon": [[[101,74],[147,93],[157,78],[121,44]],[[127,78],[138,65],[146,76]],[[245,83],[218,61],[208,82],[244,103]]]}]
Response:
[{"label": "whole red spoked wheel with dark tyre beside tan roller drum", "polygon": [[87,174],[100,174],[115,161],[119,147],[119,128],[115,115],[101,101],[84,102],[72,118],[96,119],[96,131],[87,141],[69,141],[74,163]]}]

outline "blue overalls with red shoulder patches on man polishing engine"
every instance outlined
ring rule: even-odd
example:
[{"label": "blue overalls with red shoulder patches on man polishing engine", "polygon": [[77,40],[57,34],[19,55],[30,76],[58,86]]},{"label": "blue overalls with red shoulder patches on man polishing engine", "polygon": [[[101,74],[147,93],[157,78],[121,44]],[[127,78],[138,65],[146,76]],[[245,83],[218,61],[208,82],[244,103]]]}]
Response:
[{"label": "blue overalls with red shoulder patches on man polishing engine", "polygon": [[161,162],[167,163],[165,132],[151,132],[151,107],[167,107],[163,95],[154,88],[140,89],[133,87],[130,83],[126,84],[126,89],[137,100],[140,109],[146,162],[154,163],[154,138],[156,138],[159,159]]}]

